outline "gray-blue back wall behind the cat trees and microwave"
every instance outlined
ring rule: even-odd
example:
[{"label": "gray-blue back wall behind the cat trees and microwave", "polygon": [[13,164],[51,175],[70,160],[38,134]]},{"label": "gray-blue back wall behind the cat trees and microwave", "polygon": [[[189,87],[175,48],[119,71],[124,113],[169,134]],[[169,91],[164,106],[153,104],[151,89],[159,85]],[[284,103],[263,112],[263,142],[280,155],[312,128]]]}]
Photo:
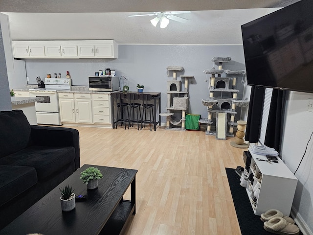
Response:
[{"label": "gray-blue back wall behind the cat trees and microwave", "polygon": [[[119,45],[118,59],[27,59],[26,72],[29,83],[37,84],[36,77],[45,78],[47,73],[69,71],[72,85],[88,86],[88,76],[95,71],[111,68],[116,70],[116,76],[125,76],[129,80],[131,91],[136,91],[136,84],[145,86],[146,92],[161,92],[161,112],[166,112],[167,80],[172,80],[173,73],[167,77],[167,66],[182,66],[184,71],[179,75],[193,75],[189,83],[189,109],[187,113],[207,116],[206,107],[201,99],[209,96],[208,82],[204,82],[206,69],[217,68],[213,57],[231,57],[229,63],[224,63],[224,70],[245,70],[244,52],[242,46],[164,46],[164,45]],[[223,74],[222,76],[225,76]],[[209,74],[208,74],[209,76]],[[233,77],[233,76],[231,76]],[[241,92],[238,99],[243,97],[242,76],[237,77],[237,89]],[[240,119],[240,108],[237,109],[236,119]],[[164,118],[164,117],[162,117]],[[165,118],[161,119],[165,122]]]}]

